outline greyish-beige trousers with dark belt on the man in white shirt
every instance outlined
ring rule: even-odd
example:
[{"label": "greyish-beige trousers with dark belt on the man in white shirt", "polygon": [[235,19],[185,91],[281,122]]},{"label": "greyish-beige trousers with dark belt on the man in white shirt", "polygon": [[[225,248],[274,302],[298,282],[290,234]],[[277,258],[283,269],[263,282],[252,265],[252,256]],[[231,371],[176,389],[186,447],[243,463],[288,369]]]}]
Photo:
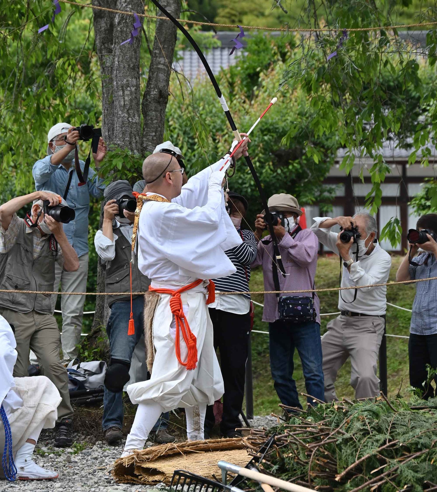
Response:
[{"label": "greyish-beige trousers with dark belt on the man in white shirt", "polygon": [[380,316],[337,316],[327,324],[321,338],[325,401],[338,400],[335,394],[337,372],[350,357],[350,385],[355,398],[379,396],[378,354],[384,334]]}]

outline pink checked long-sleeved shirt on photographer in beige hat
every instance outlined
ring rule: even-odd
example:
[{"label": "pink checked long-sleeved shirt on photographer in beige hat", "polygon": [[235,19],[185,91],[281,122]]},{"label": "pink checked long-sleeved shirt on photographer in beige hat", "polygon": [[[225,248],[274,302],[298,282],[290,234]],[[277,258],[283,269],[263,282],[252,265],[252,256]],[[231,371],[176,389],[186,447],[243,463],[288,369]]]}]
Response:
[{"label": "pink checked long-sleeved shirt on photographer in beige hat", "polygon": [[[291,231],[292,232],[292,231]],[[273,284],[272,259],[273,243],[263,244],[262,241],[271,241],[270,236],[262,238],[258,243],[258,254],[252,268],[262,265],[264,276],[264,290],[275,290]],[[282,262],[285,272],[289,275],[284,277],[280,272],[279,284],[281,290],[312,289],[317,268],[317,252],[319,240],[310,229],[302,229],[294,239],[286,234],[279,243]],[[284,296],[312,296],[312,292],[282,294]],[[317,312],[317,323],[320,324],[320,300],[317,294],[314,297],[314,305]],[[278,301],[276,294],[264,294],[264,309],[262,321],[273,323],[279,318]]]}]

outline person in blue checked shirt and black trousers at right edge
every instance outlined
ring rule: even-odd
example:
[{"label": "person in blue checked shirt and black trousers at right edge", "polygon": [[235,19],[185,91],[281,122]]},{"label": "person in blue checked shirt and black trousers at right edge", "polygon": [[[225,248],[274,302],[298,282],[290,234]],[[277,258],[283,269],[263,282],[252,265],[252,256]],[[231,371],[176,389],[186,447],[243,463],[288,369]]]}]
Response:
[{"label": "person in blue checked shirt and black trousers at right edge", "polygon": [[[417,229],[437,233],[437,214],[426,214],[417,221]],[[430,234],[423,244],[409,244],[410,251],[396,273],[396,280],[437,277],[437,243]],[[419,247],[424,250],[410,259]],[[409,384],[417,388],[424,400],[434,398],[434,388],[428,382],[427,366],[437,369],[437,281],[417,282],[409,328]],[[437,376],[434,376],[437,383]]]}]

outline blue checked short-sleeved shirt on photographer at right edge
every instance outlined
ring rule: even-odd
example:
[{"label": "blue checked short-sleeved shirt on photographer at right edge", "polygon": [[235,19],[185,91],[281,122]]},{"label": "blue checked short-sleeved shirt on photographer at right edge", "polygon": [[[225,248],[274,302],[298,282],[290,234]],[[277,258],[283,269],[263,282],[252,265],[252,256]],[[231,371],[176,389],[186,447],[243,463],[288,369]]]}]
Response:
[{"label": "blue checked short-sleeved shirt on photographer at right edge", "polygon": [[[409,266],[411,279],[437,277],[437,259],[432,253],[422,253]],[[410,333],[437,334],[437,280],[416,283],[416,295],[411,314]]]}]

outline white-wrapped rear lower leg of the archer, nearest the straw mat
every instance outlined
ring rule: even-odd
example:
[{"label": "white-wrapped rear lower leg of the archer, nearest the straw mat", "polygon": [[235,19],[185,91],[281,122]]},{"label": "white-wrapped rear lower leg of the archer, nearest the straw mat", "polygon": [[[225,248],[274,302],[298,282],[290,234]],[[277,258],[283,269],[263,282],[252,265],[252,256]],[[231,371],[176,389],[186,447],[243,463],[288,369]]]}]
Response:
[{"label": "white-wrapped rear lower leg of the archer, nearest the straw mat", "polygon": [[154,400],[147,400],[138,404],[134,423],[127,435],[121,458],[131,454],[134,449],[142,450],[144,448],[149,432],[162,412],[163,407]]}]

